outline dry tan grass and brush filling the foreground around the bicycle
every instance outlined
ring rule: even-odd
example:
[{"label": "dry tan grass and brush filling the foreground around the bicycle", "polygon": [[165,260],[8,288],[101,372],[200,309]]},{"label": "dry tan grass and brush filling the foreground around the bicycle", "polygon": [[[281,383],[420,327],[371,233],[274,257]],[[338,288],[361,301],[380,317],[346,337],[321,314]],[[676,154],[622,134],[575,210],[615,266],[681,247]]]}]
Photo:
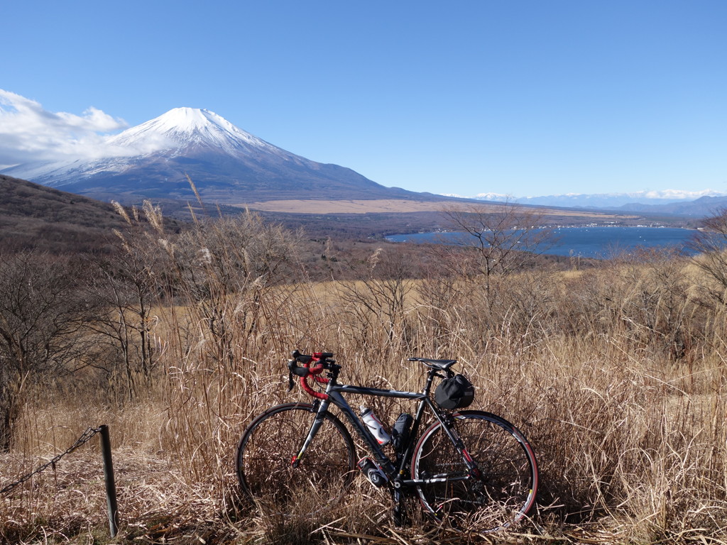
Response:
[{"label": "dry tan grass and brush filling the foreground around the bicycle", "polygon": [[[108,424],[123,543],[726,542],[724,286],[699,261],[644,252],[485,276],[481,251],[352,259],[329,243],[318,259],[333,280],[321,284],[307,278],[300,235],[255,214],[172,236],[145,213],[153,228],[129,217],[117,233],[121,259],[84,267],[78,296],[93,312],[65,344],[27,352],[21,368],[14,339],[27,320],[3,308],[0,486]],[[61,361],[68,339],[87,350]],[[536,450],[533,519],[459,536],[412,506],[413,524],[394,528],[390,498],[363,479],[315,520],[259,517],[238,495],[234,452],[255,414],[304,398],[287,392],[293,348],[335,352],[350,384],[398,389],[422,384],[406,358],[457,358],[478,408]],[[389,423],[402,408],[373,406]],[[0,495],[0,541],[108,540],[96,443]]]}]

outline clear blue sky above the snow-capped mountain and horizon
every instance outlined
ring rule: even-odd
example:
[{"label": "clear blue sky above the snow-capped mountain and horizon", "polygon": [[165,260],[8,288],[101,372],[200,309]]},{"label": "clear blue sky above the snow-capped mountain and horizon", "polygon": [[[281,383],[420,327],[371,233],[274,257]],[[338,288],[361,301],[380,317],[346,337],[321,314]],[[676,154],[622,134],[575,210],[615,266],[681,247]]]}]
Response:
[{"label": "clear blue sky above the snow-capped mountain and horizon", "polygon": [[[727,192],[723,0],[31,0],[1,14],[0,89],[87,130],[189,106],[409,190]],[[46,130],[11,124],[0,115],[5,163],[9,134]]]}]

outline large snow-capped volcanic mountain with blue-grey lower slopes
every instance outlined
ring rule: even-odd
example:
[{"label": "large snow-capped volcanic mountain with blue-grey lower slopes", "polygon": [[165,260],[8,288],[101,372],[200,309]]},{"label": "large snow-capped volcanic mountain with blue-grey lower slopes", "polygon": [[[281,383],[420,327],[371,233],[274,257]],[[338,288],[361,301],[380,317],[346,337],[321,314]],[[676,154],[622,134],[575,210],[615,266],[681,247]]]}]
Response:
[{"label": "large snow-capped volcanic mountain with blue-grey lower slopes", "polygon": [[194,199],[188,177],[204,201],[221,204],[302,198],[442,199],[384,187],[343,166],[310,161],[196,108],[174,108],[108,137],[94,158],[24,163],[0,173],[122,203]]}]

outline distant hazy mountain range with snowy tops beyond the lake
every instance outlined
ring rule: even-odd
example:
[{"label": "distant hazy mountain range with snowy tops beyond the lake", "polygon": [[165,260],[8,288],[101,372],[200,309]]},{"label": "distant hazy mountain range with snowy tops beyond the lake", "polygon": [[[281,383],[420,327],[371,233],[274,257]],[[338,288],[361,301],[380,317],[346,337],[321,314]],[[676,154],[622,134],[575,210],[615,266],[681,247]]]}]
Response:
[{"label": "distant hazy mountain range with snowy tops beyond the lake", "polygon": [[[459,196],[459,195],[449,195]],[[635,193],[595,193],[545,195],[513,198],[499,193],[480,193],[479,201],[508,201],[535,206],[558,206],[570,209],[616,210],[638,214],[668,214],[702,217],[727,206],[727,194],[703,191],[639,191]]]}]

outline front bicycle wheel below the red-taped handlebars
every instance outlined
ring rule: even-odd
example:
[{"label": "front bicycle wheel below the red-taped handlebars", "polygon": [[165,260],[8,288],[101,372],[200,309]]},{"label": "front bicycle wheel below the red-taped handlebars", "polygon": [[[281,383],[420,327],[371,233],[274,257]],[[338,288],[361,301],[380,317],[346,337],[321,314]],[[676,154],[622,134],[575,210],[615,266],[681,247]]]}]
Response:
[{"label": "front bicycle wheel below the red-taped handlebars", "polygon": [[297,467],[316,413],[310,403],[276,405],[257,416],[238,444],[241,491],[262,514],[307,516],[340,500],[354,477],[356,448],[336,416],[324,423]]}]

